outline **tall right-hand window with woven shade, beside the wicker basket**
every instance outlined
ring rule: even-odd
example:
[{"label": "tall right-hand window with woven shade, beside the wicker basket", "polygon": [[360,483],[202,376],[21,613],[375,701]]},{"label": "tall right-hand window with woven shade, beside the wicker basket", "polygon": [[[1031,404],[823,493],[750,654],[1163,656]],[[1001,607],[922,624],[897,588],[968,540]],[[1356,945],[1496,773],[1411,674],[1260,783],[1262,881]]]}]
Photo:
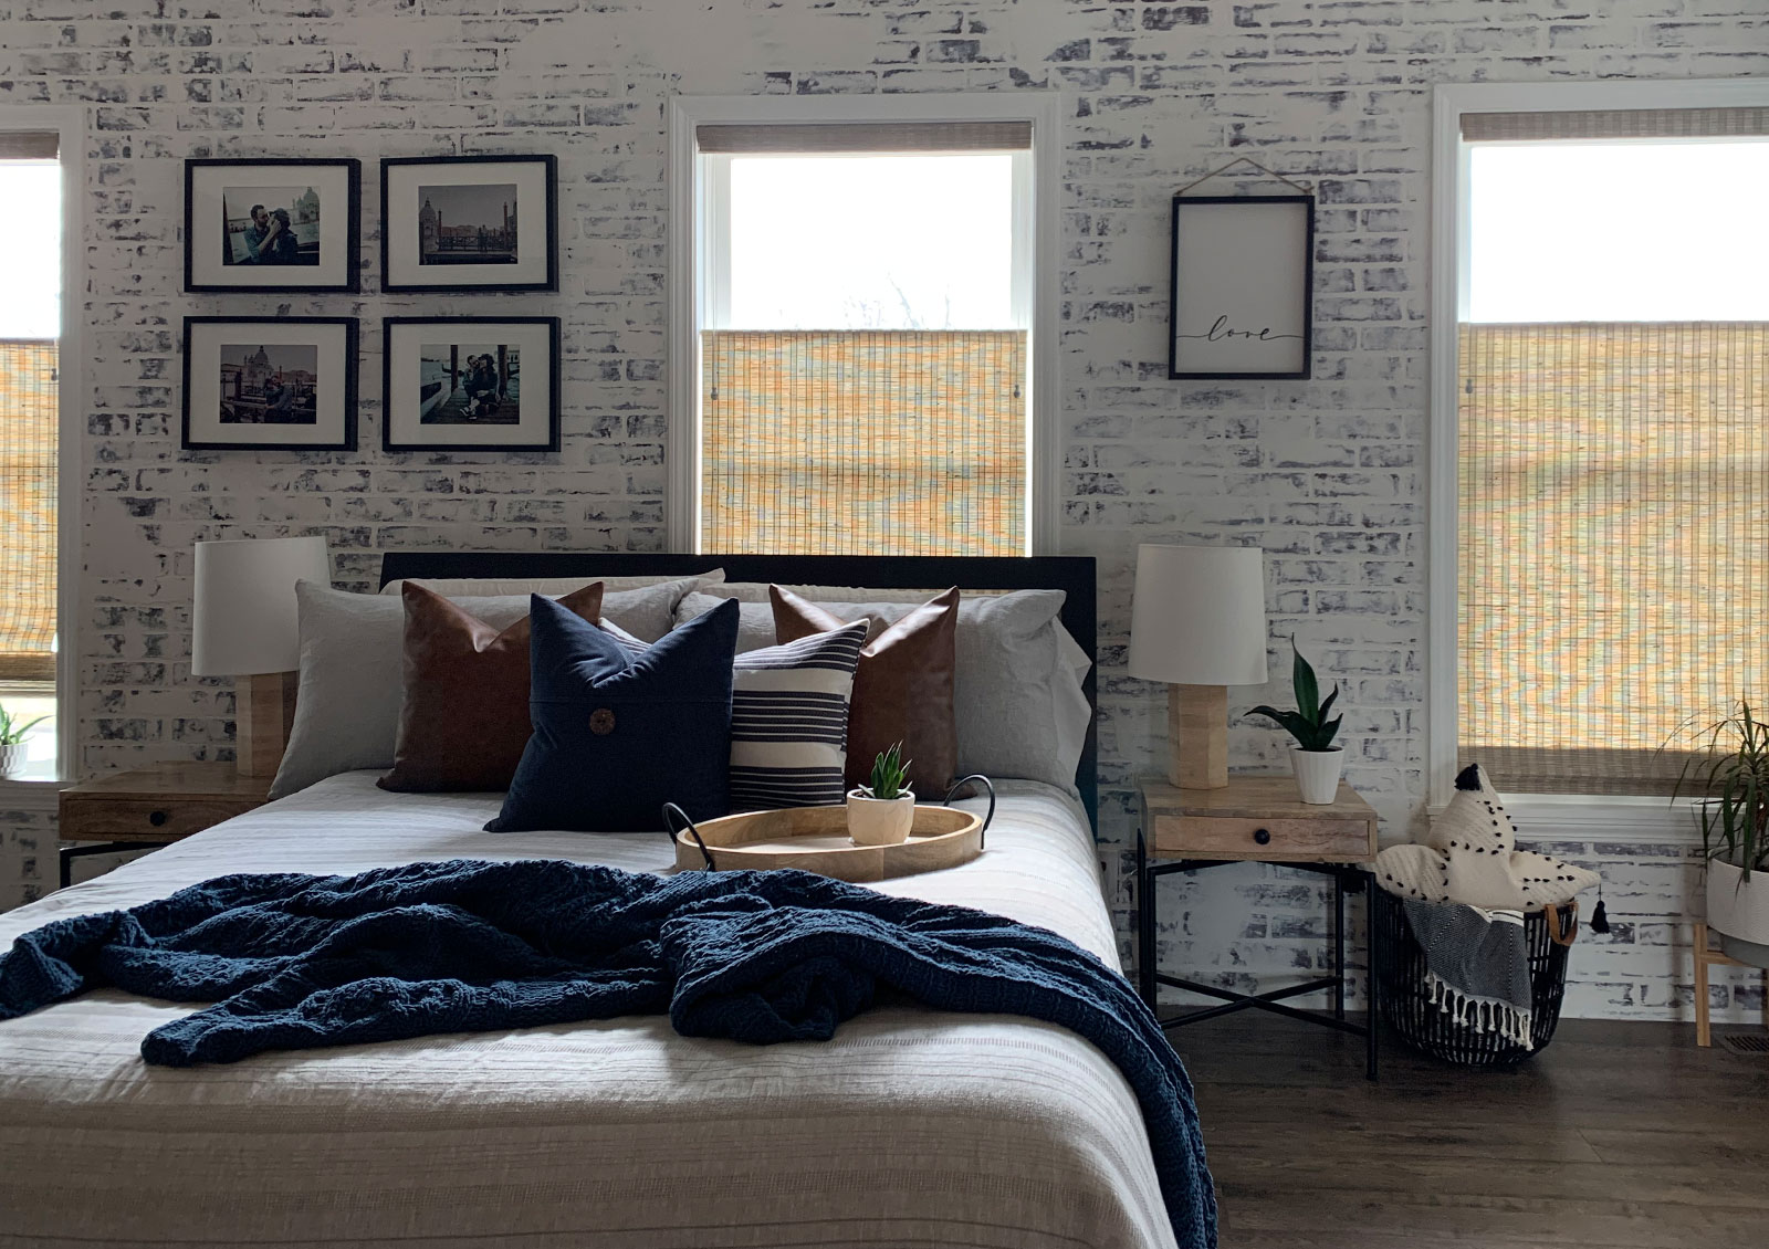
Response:
[{"label": "tall right-hand window with woven shade, beside the wicker basket", "polygon": [[1769,699],[1769,108],[1458,131],[1442,762],[1668,794],[1691,718]]}]

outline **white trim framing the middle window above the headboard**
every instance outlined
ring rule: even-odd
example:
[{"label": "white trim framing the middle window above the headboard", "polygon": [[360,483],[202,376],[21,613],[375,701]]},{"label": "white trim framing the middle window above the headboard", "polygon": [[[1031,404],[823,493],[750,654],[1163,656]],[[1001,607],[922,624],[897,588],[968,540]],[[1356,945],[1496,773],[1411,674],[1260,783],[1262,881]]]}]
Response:
[{"label": "white trim framing the middle window above the headboard", "polygon": [[669,435],[663,515],[669,548],[699,543],[701,375],[699,258],[706,207],[695,177],[695,126],[743,122],[1031,122],[1031,554],[1058,554],[1061,541],[1061,416],[1058,382],[1058,276],[1061,188],[1061,96],[1058,92],[927,92],[904,96],[672,96],[669,101]]}]

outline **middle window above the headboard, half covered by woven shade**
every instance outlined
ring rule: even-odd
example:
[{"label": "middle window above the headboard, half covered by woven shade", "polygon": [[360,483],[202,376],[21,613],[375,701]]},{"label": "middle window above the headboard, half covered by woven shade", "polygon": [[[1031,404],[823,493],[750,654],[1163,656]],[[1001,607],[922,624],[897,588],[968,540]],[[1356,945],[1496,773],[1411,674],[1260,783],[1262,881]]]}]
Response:
[{"label": "middle window above the headboard, half covered by woven shade", "polygon": [[1047,502],[1033,122],[830,120],[826,106],[793,120],[803,101],[727,120],[686,104],[676,545],[1030,554]]}]

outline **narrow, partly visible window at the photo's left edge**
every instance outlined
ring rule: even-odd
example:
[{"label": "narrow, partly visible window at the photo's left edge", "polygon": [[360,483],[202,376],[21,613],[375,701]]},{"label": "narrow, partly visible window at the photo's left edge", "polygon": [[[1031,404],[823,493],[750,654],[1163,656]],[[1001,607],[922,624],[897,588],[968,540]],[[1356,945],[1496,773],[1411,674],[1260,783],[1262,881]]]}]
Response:
[{"label": "narrow, partly visible window at the photo's left edge", "polygon": [[0,131],[0,704],[42,718],[27,775],[57,773],[57,550],[60,442],[62,168],[53,131]]}]

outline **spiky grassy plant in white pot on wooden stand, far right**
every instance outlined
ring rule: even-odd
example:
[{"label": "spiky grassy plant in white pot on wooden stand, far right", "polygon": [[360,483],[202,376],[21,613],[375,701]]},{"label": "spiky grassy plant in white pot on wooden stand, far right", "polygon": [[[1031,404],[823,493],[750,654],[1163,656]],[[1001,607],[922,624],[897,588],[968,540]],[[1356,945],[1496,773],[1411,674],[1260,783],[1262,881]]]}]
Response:
[{"label": "spiky grassy plant in white pot on wooden stand, far right", "polygon": [[1769,968],[1769,724],[1751,704],[1700,729],[1672,798],[1693,796],[1707,858],[1707,925],[1728,957]]}]

